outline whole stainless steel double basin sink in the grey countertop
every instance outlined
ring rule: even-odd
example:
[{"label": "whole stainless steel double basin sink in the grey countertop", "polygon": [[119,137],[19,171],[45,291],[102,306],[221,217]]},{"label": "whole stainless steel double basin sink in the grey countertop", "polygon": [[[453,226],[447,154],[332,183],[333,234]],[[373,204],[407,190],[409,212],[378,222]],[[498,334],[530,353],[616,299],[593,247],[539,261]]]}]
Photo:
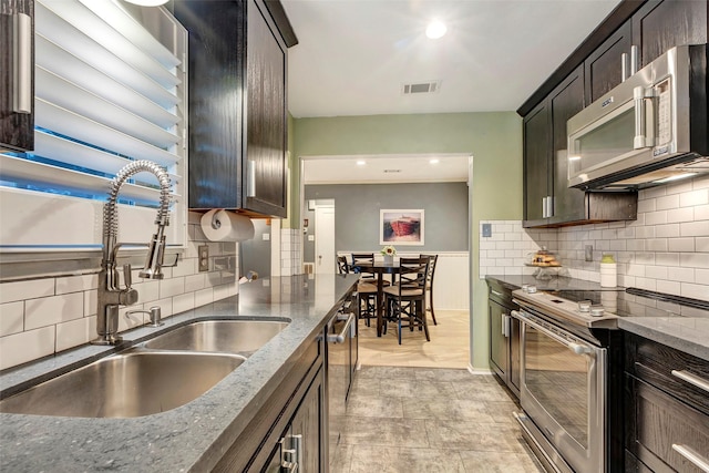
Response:
[{"label": "whole stainless steel double basin sink in the grey countertop", "polygon": [[0,412],[136,418],[197,399],[288,322],[207,320],[176,327],[0,401]]}]

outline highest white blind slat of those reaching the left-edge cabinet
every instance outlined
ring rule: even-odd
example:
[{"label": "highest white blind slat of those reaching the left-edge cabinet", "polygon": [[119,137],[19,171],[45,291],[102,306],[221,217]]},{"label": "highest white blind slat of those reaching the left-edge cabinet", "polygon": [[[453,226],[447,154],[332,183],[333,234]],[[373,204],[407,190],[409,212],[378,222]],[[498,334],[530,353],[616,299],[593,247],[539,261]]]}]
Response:
[{"label": "highest white blind slat of those reaching the left-edge cabinet", "polygon": [[143,72],[125,64],[111,51],[96,44],[83,32],[59,18],[53,11],[42,7],[41,3],[35,3],[34,14],[37,33],[70,51],[86,64],[91,64],[116,81],[135,89],[142,95],[151,97],[162,106],[171,107],[179,103],[174,93],[167,91]]}]

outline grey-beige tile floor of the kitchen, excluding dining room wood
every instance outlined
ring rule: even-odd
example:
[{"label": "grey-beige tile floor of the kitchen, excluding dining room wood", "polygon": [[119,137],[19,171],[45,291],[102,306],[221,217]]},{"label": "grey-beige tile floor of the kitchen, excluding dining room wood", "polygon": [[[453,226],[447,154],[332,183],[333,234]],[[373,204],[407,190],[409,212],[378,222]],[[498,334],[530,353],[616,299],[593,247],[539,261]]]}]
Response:
[{"label": "grey-beige tile floor of the kitchen, excluding dining room wood", "polygon": [[490,374],[362,366],[332,473],[542,472]]}]

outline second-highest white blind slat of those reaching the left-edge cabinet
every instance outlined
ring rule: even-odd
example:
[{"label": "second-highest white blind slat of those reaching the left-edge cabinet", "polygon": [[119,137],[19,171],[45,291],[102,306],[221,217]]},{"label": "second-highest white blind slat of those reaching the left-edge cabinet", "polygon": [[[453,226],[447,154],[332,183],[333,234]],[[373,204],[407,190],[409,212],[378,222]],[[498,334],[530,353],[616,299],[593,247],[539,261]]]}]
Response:
[{"label": "second-highest white blind slat of those reaching the left-edge cabinet", "polygon": [[[64,79],[96,95],[120,103],[124,109],[160,126],[167,128],[181,120],[164,106],[86,64],[41,34],[35,37],[34,59],[38,66],[49,71],[61,70]],[[172,103],[168,103],[168,106],[172,106]]]}]

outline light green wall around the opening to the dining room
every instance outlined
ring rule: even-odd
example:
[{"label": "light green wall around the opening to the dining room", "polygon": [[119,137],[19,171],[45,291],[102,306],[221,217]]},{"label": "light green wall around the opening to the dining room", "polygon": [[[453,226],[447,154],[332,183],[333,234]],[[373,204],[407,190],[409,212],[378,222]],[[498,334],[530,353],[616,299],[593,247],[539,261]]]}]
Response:
[{"label": "light green wall around the opening to the dining room", "polygon": [[514,112],[294,119],[290,219],[300,222],[301,156],[470,153],[473,155],[471,364],[487,368],[487,286],[479,279],[480,220],[522,219],[522,119]]}]

